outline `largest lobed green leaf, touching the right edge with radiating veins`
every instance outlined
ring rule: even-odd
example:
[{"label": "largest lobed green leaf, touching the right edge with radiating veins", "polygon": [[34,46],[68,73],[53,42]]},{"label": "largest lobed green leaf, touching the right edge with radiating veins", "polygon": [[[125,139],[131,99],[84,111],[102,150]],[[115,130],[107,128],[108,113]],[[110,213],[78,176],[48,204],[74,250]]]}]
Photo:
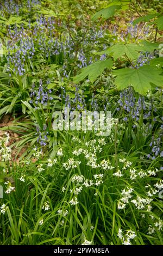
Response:
[{"label": "largest lobed green leaf, touching the right edge with radiating veins", "polygon": [[163,86],[163,76],[160,75],[161,69],[155,66],[141,66],[139,69],[119,69],[114,70],[116,75],[115,83],[118,89],[124,89],[128,86],[133,86],[135,92],[146,94],[150,90],[151,83],[156,86]]}]

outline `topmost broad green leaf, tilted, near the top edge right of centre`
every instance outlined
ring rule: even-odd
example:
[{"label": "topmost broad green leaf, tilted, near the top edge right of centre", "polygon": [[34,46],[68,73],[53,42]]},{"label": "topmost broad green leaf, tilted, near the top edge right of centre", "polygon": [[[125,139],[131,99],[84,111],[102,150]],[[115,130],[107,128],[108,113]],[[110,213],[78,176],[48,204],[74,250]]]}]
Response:
[{"label": "topmost broad green leaf, tilted, near the top edge right of centre", "polygon": [[111,7],[102,9],[92,16],[92,20],[97,20],[101,16],[104,20],[109,19],[115,14],[117,9],[121,9],[121,5],[112,5]]}]

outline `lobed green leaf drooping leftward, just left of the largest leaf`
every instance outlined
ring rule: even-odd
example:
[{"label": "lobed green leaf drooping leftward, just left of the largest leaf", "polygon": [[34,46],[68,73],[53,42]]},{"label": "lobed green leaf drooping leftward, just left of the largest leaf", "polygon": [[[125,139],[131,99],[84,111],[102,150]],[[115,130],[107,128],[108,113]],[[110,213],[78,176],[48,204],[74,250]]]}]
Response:
[{"label": "lobed green leaf drooping leftward, just left of the largest leaf", "polygon": [[89,80],[93,83],[96,78],[102,74],[105,68],[111,68],[112,65],[113,62],[111,59],[102,60],[101,62],[95,62],[82,69],[82,72],[73,78],[73,82],[79,83],[88,76]]}]

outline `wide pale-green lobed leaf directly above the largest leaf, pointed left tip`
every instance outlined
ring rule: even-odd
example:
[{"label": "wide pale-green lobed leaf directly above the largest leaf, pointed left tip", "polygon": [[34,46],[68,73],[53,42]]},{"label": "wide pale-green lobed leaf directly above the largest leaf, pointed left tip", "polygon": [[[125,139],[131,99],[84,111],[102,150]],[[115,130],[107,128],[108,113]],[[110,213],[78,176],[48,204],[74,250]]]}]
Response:
[{"label": "wide pale-green lobed leaf directly above the largest leaf, pointed left tip", "polygon": [[124,56],[125,54],[130,59],[137,59],[139,57],[138,52],[140,51],[141,51],[141,46],[137,44],[118,43],[116,45],[111,46],[107,50],[101,52],[100,54],[102,53],[110,54],[111,56],[113,56],[115,60]]}]

